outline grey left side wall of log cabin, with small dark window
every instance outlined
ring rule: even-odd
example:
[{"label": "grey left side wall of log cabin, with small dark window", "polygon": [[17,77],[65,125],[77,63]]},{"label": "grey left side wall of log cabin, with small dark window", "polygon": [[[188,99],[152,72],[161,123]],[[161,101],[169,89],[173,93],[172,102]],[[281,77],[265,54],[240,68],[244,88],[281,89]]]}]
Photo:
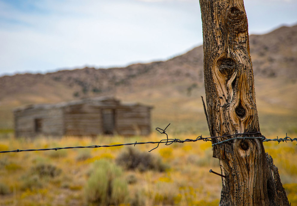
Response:
[{"label": "grey left side wall of log cabin, with small dark window", "polygon": [[[36,120],[38,127],[36,128]],[[63,111],[61,108],[32,108],[14,112],[16,137],[36,135],[63,135]]]}]

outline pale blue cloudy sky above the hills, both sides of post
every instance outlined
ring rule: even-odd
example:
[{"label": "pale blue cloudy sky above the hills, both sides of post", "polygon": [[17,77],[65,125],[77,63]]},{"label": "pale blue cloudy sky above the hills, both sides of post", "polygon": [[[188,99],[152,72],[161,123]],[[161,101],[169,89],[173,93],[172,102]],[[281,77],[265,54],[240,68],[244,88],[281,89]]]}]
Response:
[{"label": "pale blue cloudy sky above the hills, both sides of post", "polygon": [[[297,0],[245,0],[249,34],[297,24]],[[0,76],[167,60],[202,44],[198,0],[0,0]]]}]

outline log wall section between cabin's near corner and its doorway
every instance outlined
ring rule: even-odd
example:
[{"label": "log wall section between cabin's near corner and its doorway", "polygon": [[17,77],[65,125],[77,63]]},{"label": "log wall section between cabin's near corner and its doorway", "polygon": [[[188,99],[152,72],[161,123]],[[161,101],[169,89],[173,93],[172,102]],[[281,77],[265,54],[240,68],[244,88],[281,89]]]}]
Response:
[{"label": "log wall section between cabin's near corner and its doorway", "polygon": [[64,108],[65,135],[102,134],[101,109],[88,104],[71,105]]}]

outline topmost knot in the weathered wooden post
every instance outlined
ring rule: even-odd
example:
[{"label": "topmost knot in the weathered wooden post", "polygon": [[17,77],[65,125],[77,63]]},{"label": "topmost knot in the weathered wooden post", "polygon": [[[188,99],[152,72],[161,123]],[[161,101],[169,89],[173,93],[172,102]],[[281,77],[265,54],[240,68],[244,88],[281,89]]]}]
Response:
[{"label": "topmost knot in the weathered wooden post", "polygon": [[247,17],[237,7],[231,7],[229,9],[227,22],[229,29],[232,29],[233,32],[247,32]]}]

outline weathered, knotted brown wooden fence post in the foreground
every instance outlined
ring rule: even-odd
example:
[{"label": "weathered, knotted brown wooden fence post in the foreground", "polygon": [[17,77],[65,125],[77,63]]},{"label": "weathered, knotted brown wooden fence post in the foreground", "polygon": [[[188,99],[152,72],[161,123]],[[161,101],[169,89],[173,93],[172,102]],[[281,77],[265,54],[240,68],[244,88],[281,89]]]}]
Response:
[{"label": "weathered, knotted brown wooden fence post in the foreground", "polygon": [[[210,135],[260,131],[243,0],[199,1]],[[262,141],[218,144],[213,157],[219,158],[226,176],[222,177],[220,205],[289,205],[277,167],[265,154]]]}]

